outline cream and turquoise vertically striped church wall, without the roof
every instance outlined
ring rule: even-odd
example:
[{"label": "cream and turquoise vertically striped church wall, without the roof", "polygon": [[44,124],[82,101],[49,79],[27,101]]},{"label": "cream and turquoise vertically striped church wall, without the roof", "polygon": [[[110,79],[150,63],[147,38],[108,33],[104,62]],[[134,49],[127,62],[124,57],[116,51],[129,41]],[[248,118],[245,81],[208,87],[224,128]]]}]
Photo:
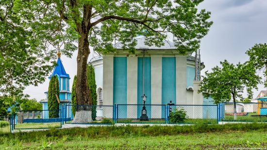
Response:
[{"label": "cream and turquoise vertically striped church wall, without the roof", "polygon": [[[140,54],[141,55],[141,54]],[[193,92],[186,90],[193,87],[195,77],[194,61],[181,54],[146,54],[144,58],[144,94],[146,104],[193,104]],[[103,56],[103,103],[142,104],[143,95],[143,56],[129,54],[108,54]],[[128,108],[127,108],[128,107]],[[141,111],[134,111],[125,106],[124,117],[141,116]],[[137,110],[141,109],[137,108]],[[147,107],[148,117],[154,107]],[[104,114],[104,112],[103,112]],[[158,113],[161,114],[161,113]]]}]

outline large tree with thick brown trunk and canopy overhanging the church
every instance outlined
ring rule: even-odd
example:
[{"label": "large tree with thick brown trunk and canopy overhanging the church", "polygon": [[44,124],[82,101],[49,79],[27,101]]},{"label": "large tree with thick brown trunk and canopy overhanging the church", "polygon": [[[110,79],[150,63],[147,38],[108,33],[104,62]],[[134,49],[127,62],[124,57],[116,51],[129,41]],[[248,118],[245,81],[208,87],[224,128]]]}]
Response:
[{"label": "large tree with thick brown trunk and canopy overhanging the church", "polygon": [[[171,36],[181,53],[196,50],[209,31],[210,12],[198,11],[203,0],[16,0],[14,10],[38,39],[65,54],[76,50],[77,104],[92,104],[86,77],[89,46],[115,52],[113,42],[134,53],[137,34],[146,30],[146,45],[160,47]],[[61,47],[62,46],[62,47]]]}]

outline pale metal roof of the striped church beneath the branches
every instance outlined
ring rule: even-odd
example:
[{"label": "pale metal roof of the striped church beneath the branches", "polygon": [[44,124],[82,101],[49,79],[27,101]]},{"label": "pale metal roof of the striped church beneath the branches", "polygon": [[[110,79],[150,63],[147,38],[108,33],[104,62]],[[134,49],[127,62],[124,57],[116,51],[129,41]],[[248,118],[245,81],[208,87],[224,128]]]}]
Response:
[{"label": "pale metal roof of the striped church beneath the branches", "polygon": [[[164,46],[161,46],[161,47],[156,47],[154,45],[152,46],[147,46],[145,45],[145,36],[137,36],[134,38],[137,42],[136,46],[135,46],[135,49],[151,49],[151,50],[170,50],[170,49],[176,49],[176,47],[174,46],[174,43],[173,42],[170,42],[168,40],[163,40],[164,42]],[[119,43],[116,43],[114,45],[114,47],[116,47],[117,49],[122,49],[122,44],[119,42]]]}]

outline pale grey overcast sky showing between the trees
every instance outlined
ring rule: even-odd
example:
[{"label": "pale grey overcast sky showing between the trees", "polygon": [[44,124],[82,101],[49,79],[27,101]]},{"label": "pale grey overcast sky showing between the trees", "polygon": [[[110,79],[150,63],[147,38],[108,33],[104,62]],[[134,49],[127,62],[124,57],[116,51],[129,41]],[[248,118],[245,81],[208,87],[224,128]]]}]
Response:
[{"label": "pale grey overcast sky showing between the trees", "polygon": [[[200,44],[201,61],[206,70],[219,66],[219,62],[244,63],[249,59],[245,54],[256,43],[267,43],[267,0],[204,0],[198,7],[211,12],[214,24]],[[92,50],[92,48],[91,48]],[[70,75],[70,88],[77,72],[77,51],[72,59],[61,57],[66,72]],[[88,61],[92,58],[90,54]],[[39,86],[29,86],[25,93],[37,100],[45,99],[49,80]],[[266,90],[259,85],[260,90]],[[254,90],[254,98],[259,91]]]}]

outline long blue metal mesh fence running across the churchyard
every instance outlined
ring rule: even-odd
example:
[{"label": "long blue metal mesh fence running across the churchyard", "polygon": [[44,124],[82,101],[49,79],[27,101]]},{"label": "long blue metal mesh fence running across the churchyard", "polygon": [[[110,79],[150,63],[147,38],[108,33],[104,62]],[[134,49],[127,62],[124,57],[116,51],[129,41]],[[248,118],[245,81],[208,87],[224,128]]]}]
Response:
[{"label": "long blue metal mesh fence running across the churchyard", "polygon": [[[233,102],[221,102],[218,105],[65,105],[58,110],[17,111],[15,115],[5,118],[10,120],[10,130],[62,128],[64,123],[217,124],[219,121],[267,122],[267,114],[264,114],[267,108],[259,107],[261,107],[260,103],[238,102],[236,103],[236,118],[234,118]],[[78,121],[75,121],[72,110],[76,110],[76,115],[77,112],[83,111],[77,116]],[[58,113],[58,117],[49,118],[49,112]],[[179,114],[182,114],[182,119]],[[93,118],[93,120],[83,121],[88,118]]]}]

